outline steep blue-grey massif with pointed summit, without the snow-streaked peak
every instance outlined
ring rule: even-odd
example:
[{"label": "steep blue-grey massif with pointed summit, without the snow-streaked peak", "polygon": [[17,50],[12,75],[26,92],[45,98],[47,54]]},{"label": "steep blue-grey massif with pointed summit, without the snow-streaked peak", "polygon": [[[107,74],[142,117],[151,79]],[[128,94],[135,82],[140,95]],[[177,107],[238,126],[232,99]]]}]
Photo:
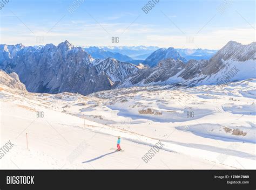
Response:
[{"label": "steep blue-grey massif with pointed summit, without the snow-streaked peak", "polygon": [[57,47],[25,47],[7,65],[17,72],[29,92],[60,93],[73,73],[82,66],[89,67],[90,61],[90,55],[82,48],[65,41]]}]

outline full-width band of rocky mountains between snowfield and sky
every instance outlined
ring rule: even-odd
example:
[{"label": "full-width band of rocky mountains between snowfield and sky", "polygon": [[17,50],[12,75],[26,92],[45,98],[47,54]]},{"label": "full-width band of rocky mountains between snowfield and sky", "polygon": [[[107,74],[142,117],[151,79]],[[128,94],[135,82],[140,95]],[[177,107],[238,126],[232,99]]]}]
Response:
[{"label": "full-width band of rocky mountains between snowfield and sky", "polygon": [[29,92],[51,94],[87,95],[130,86],[222,84],[256,78],[255,42],[241,45],[230,41],[210,60],[187,60],[173,47],[160,48],[138,65],[106,58],[115,55],[130,59],[120,53],[89,49],[102,57],[93,58],[89,51],[68,41],[58,46],[0,45],[0,69],[17,73]]}]

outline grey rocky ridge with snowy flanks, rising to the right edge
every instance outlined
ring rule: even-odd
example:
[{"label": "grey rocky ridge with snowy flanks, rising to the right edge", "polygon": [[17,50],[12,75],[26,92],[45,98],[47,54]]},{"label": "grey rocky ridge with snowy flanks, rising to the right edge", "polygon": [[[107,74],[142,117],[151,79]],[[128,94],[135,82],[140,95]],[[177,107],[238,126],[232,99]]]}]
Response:
[{"label": "grey rocky ridge with snowy flanks, rising to the right edge", "polygon": [[[158,85],[172,83],[185,85],[216,84],[220,78],[223,78],[223,76],[230,72],[231,68],[237,69],[236,66],[240,66],[240,70],[242,70],[237,69],[241,80],[256,78],[256,73],[250,71],[250,69],[255,71],[256,67],[255,45],[255,42],[249,45],[241,45],[230,41],[209,61],[190,60],[184,64],[179,59],[161,60],[157,67],[143,69],[131,75],[118,87],[145,86],[149,82],[152,85],[156,82],[158,82]],[[246,64],[244,68],[242,68],[243,64]],[[235,78],[232,79],[232,77],[226,81],[234,81]],[[147,82],[145,83],[145,81]]]}]

